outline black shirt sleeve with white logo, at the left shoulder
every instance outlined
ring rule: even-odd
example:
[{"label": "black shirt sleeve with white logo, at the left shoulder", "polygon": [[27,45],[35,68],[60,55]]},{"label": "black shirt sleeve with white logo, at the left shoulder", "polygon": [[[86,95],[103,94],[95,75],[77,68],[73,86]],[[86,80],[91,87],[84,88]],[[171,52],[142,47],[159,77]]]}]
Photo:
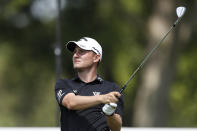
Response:
[{"label": "black shirt sleeve with white logo, at the left shoulder", "polygon": [[67,82],[65,80],[59,79],[59,80],[56,81],[55,97],[56,97],[56,100],[57,100],[58,104],[61,105],[64,96],[68,93],[71,93],[71,92],[73,92],[72,88],[69,87],[69,85],[67,84]]}]

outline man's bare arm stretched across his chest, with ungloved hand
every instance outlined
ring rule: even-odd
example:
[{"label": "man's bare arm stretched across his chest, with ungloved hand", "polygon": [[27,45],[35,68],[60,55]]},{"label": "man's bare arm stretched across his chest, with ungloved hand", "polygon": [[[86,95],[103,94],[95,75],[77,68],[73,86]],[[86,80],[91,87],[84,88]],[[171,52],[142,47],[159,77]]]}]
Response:
[{"label": "man's bare arm stretched across his chest, with ungloved hand", "polygon": [[70,110],[82,110],[93,107],[98,104],[117,103],[119,92],[110,92],[105,95],[79,96],[74,93],[68,93],[62,100],[62,105]]}]

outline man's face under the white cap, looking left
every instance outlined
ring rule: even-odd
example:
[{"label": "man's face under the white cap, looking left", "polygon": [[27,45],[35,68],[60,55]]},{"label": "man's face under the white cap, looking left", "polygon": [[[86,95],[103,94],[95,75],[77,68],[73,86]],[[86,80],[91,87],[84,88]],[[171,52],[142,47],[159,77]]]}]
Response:
[{"label": "man's face under the white cap, looking left", "polygon": [[76,46],[73,54],[73,67],[74,69],[87,69],[93,66],[93,64],[97,61],[95,61],[97,57],[97,54],[95,54],[93,51],[88,51],[79,48]]}]

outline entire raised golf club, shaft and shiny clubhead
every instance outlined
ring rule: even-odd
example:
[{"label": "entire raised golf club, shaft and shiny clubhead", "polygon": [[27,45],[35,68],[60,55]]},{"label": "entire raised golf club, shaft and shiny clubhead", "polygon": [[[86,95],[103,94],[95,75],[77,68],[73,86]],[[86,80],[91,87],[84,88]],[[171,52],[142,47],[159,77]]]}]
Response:
[{"label": "entire raised golf club, shaft and shiny clubhead", "polygon": [[143,67],[145,62],[150,58],[150,56],[153,54],[153,52],[161,45],[163,40],[167,37],[167,35],[176,27],[178,22],[181,20],[183,15],[185,14],[186,8],[181,6],[176,8],[176,14],[178,16],[178,19],[174,22],[174,24],[170,27],[169,31],[164,35],[164,37],[153,47],[153,49],[144,57],[140,65],[137,67],[137,69],[131,74],[128,81],[123,85],[123,87],[120,90],[120,93],[122,94],[129,82],[133,79],[135,74]]}]

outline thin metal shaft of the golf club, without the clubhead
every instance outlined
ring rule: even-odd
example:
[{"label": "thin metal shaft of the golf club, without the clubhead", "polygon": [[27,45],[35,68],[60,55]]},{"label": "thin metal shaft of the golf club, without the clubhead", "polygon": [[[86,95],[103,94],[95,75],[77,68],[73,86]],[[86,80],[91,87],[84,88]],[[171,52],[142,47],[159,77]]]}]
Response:
[{"label": "thin metal shaft of the golf club, without the clubhead", "polygon": [[173,30],[174,27],[176,27],[176,24],[180,21],[181,18],[178,18],[174,24],[170,27],[170,29],[168,30],[168,32],[165,34],[165,36],[153,47],[153,49],[144,57],[144,59],[142,60],[142,62],[140,63],[140,65],[137,67],[137,69],[131,74],[131,76],[129,77],[128,81],[123,85],[123,87],[120,90],[120,94],[123,93],[124,89],[127,87],[127,85],[129,84],[129,82],[133,79],[133,77],[135,76],[135,74],[143,67],[143,65],[145,64],[145,62],[150,58],[150,56],[153,54],[153,52],[161,45],[161,43],[163,42],[163,40],[168,36],[168,34]]}]

